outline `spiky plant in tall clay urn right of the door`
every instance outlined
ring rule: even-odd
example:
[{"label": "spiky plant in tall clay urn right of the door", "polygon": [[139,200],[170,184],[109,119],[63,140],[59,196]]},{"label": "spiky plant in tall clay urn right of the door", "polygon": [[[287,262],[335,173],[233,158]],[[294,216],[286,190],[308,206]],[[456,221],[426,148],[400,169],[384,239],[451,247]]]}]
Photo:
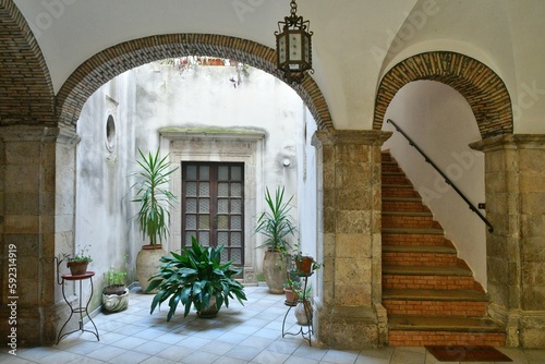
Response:
[{"label": "spiky plant in tall clay urn right of the door", "polygon": [[270,293],[283,293],[283,283],[287,280],[286,256],[291,248],[289,236],[294,236],[296,231],[295,220],[291,217],[291,201],[284,201],[284,189],[277,187],[275,196],[268,189],[265,192],[265,202],[268,209],[257,219],[255,231],[265,236],[258,247],[265,247],[263,272]]}]

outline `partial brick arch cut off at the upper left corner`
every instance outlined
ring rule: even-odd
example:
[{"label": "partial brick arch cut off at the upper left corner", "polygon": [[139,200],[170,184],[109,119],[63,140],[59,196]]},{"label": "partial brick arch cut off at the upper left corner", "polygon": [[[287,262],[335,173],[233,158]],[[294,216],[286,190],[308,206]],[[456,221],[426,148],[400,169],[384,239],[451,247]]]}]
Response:
[{"label": "partial brick arch cut off at the upper left corner", "polygon": [[13,1],[0,0],[0,124],[55,124],[55,94],[44,56]]}]

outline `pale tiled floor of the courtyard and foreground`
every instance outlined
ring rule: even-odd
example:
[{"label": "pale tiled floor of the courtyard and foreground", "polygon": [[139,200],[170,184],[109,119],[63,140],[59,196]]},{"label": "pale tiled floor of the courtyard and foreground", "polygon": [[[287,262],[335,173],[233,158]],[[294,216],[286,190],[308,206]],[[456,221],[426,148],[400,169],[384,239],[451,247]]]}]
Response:
[{"label": "pale tiled floor of the courtyard and foreground", "polygon": [[[244,306],[232,302],[215,319],[196,318],[194,313],[183,318],[179,307],[180,314],[167,323],[168,306],[149,315],[153,295],[136,290],[131,293],[126,311],[94,318],[100,341],[92,333],[75,332],[51,348],[19,349],[17,356],[2,351],[0,363],[439,363],[424,348],[340,351],[310,347],[301,336],[282,338],[288,308],[283,295],[268,294],[265,287],[249,287],[245,291],[249,301]],[[292,312],[288,326],[299,328]],[[513,363],[545,363],[545,350],[498,349]]]}]

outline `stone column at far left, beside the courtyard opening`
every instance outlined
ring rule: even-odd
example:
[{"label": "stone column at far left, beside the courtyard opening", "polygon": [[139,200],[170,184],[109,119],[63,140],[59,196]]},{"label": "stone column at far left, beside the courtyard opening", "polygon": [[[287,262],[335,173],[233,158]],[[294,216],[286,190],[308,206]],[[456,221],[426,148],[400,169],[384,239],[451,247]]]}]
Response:
[{"label": "stone column at far left, beside the courtyard opening", "polygon": [[[56,181],[60,182],[57,167],[70,168],[57,160],[58,143],[73,137],[60,137],[56,128],[0,129],[0,335],[5,338],[16,330],[17,347],[53,343],[59,314],[65,308],[65,304],[56,304],[61,295],[53,258],[59,238],[65,245],[73,246],[74,204],[65,203],[73,196],[75,178],[72,175],[64,185],[56,185]],[[72,147],[72,150],[75,149]],[[71,213],[58,214],[59,209]],[[62,220],[70,226],[72,234],[59,232]],[[12,259],[10,251],[14,253]],[[10,264],[14,268],[11,271],[8,270]],[[14,277],[9,272],[13,271],[16,279],[12,282],[16,286],[10,291],[10,278]],[[8,303],[15,303],[12,307],[16,310],[8,307]],[[13,315],[16,316],[13,325],[7,325]]]}]

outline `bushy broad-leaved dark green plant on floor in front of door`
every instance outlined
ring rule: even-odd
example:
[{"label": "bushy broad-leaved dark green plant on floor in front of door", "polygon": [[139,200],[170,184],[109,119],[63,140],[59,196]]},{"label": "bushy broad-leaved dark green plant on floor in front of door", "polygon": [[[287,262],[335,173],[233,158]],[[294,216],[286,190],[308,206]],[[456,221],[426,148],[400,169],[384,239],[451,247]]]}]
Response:
[{"label": "bushy broad-leaved dark green plant on floor in front of door", "polygon": [[148,292],[158,290],[150,314],[158,304],[169,300],[170,320],[179,303],[184,305],[186,317],[192,305],[199,317],[215,317],[221,306],[229,307],[229,299],[237,298],[243,305],[246,300],[244,287],[233,279],[241,269],[232,267],[232,262],[221,263],[223,245],[204,247],[192,236],[191,247],[182,248],[182,254],[171,252],[161,257],[160,271],[150,278]]}]

